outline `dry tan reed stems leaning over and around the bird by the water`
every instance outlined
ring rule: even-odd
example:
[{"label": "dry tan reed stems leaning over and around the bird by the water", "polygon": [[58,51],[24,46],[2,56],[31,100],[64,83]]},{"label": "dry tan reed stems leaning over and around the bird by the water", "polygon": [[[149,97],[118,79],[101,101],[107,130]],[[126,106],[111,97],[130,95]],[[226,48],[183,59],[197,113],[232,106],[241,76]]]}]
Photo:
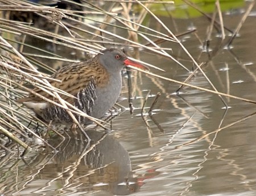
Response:
[{"label": "dry tan reed stems leaning over and around the bird by the water", "polygon": [[[59,94],[67,93],[51,86],[48,80],[52,80],[49,76],[56,69],[54,66],[51,66],[51,64],[62,66],[63,64],[67,64],[67,62],[74,62],[78,59],[88,59],[101,49],[109,46],[140,48],[144,51],[154,53],[154,55],[163,56],[166,59],[175,61],[189,73],[191,70],[168,53],[171,48],[162,48],[159,45],[162,42],[176,42],[187,54],[191,62],[196,65],[196,69],[191,73],[188,79],[184,82],[180,82],[154,73],[145,72],[146,74],[161,78],[162,80],[176,82],[180,84],[181,87],[189,86],[209,93],[218,94],[224,104],[225,101],[222,97],[256,103],[255,101],[218,92],[202,69],[202,66],[207,64],[207,62],[199,65],[180,40],[177,39],[177,36],[175,36],[158,16],[154,15],[149,9],[152,3],[168,4],[172,2],[104,1],[103,6],[99,5],[98,3],[100,2],[98,1],[92,3],[88,1],[81,1],[81,3],[75,3],[73,1],[65,2],[69,3],[71,7],[80,7],[80,10],[58,9],[57,7],[36,5],[21,0],[9,0],[8,2],[0,0],[0,11],[2,15],[2,17],[0,17],[0,132],[23,148],[30,148],[28,146],[30,143],[28,138],[34,135],[42,140],[44,144],[54,149],[42,136],[36,134],[36,132],[41,132],[49,128],[48,124],[41,122],[30,111],[17,104],[15,101],[17,98],[24,97],[28,93],[36,94],[31,90],[31,86],[37,86],[58,99],[59,103],[56,103],[44,98],[48,102],[63,107],[71,116],[73,116],[73,113],[80,114],[92,119],[98,126],[107,128],[101,124],[101,120],[86,115],[61,99]],[[142,11],[138,15],[131,15],[129,12],[134,3],[140,5],[142,8]],[[189,4],[189,2],[187,3],[193,6]],[[217,9],[220,10],[218,3]],[[220,11],[216,11],[216,13],[217,12],[220,14]],[[249,11],[246,13],[248,12]],[[143,25],[142,22],[148,14],[159,23],[166,33]],[[22,16],[20,21],[18,21],[17,18],[14,20],[14,16],[19,17],[20,15]],[[205,14],[205,16],[210,19],[208,15]],[[242,22],[244,22],[246,16],[247,15],[243,17]],[[221,18],[221,15],[219,15],[219,18]],[[222,36],[225,35],[224,30],[227,30],[227,28],[224,26],[222,20],[218,23],[214,17],[210,22],[212,23],[208,37],[210,37],[213,25],[216,24],[221,27]],[[241,28],[242,22],[238,25],[234,35],[236,35],[237,31]],[[126,35],[123,35],[124,30],[127,32]],[[189,31],[184,34],[193,32],[194,31]],[[32,40],[32,42],[29,40]],[[34,44],[33,41],[43,44],[44,47],[43,45],[39,47],[39,44]],[[51,47],[51,51],[45,49],[47,47]],[[59,48],[61,48],[61,50],[58,50]],[[71,51],[75,51],[77,58],[67,57],[65,51],[69,51],[69,56],[72,56],[70,55]],[[144,64],[153,68],[152,70],[154,70],[154,68],[160,69],[146,62]],[[207,79],[213,90],[188,84],[190,78],[194,76],[197,70]],[[76,122],[74,116],[73,120]],[[76,122],[76,124],[80,126],[78,122]],[[80,127],[80,129],[83,130],[82,127]],[[51,130],[57,134],[54,128],[51,128]],[[1,139],[5,141],[6,137],[2,137]]]}]

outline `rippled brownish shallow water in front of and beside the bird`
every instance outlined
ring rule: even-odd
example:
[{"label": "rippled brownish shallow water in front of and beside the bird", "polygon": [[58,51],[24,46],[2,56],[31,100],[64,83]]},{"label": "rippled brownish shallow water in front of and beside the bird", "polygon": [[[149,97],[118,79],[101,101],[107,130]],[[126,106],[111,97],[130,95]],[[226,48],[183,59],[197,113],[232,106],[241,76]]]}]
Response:
[{"label": "rippled brownish shallow water in front of and beside the bird", "polygon": [[[221,49],[204,67],[205,74],[218,91],[251,100],[256,100],[254,12],[255,7],[243,24],[240,36],[233,42],[232,53]],[[223,14],[224,23],[231,29],[242,17],[242,14]],[[161,19],[166,24],[170,23],[168,18]],[[177,19],[176,24],[180,31],[187,30],[188,26],[195,27],[202,40],[209,26],[203,16]],[[200,41],[194,34],[183,40],[198,62],[208,59],[207,53],[201,52]],[[212,37],[211,43],[210,48],[214,49],[220,44],[220,38],[217,35]],[[179,56],[180,62],[191,69],[192,63],[187,61],[188,57],[177,44],[163,44],[162,47],[173,48],[172,55]],[[189,76],[179,65],[163,57],[142,51],[141,59],[166,70],[151,69],[161,76],[177,81],[184,81]],[[133,114],[126,110],[116,116],[112,121],[113,132],[104,135],[103,132],[88,131],[95,146],[93,143],[87,145],[82,139],[65,140],[63,143],[52,139],[51,144],[59,150],[57,154],[45,151],[28,153],[24,161],[15,156],[8,156],[8,160],[2,157],[0,193],[140,196],[256,194],[256,106],[253,103],[224,97],[229,106],[225,110],[216,94],[184,87],[177,96],[174,93],[179,85],[143,73],[133,72],[131,80],[135,110]],[[189,84],[212,89],[200,73]],[[127,98],[126,77],[123,78],[123,85],[121,96]],[[143,120],[141,107],[149,90],[152,96],[147,99],[145,111],[151,106],[155,95],[158,92],[161,95],[153,110],[154,119],[145,114]],[[127,99],[121,104],[129,107]],[[218,128],[223,129],[193,141]]]}]

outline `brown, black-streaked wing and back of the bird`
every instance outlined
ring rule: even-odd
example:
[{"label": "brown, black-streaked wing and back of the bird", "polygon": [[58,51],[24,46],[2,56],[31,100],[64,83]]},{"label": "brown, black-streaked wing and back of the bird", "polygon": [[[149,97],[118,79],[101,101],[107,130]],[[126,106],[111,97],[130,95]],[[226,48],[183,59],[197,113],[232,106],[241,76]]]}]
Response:
[{"label": "brown, black-streaked wing and back of the bird", "polygon": [[[88,62],[76,62],[75,64],[59,69],[55,74],[52,75],[52,78],[61,80],[61,82],[51,80],[49,83],[57,89],[63,90],[77,97],[80,91],[85,93],[87,91],[92,91],[93,88],[95,91],[97,86],[104,86],[106,83],[108,83],[104,82],[108,81],[108,77],[108,73],[102,66],[89,66]],[[36,87],[34,91],[43,97],[51,100],[54,99],[51,95],[38,87]],[[71,104],[74,103],[74,98],[60,93],[59,95],[65,101]],[[18,102],[20,103],[27,101],[44,102],[42,98],[32,93],[27,98],[18,99]]]}]

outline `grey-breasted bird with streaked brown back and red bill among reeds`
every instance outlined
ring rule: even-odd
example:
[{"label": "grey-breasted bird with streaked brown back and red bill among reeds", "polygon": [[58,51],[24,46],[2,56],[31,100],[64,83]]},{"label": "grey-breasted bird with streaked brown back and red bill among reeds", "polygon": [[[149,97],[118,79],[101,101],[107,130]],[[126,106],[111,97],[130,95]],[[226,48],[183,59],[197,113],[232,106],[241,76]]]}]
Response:
[{"label": "grey-breasted bird with streaked brown back and red bill among reeds", "polygon": [[[122,89],[121,70],[124,66],[135,66],[148,69],[147,66],[128,59],[126,54],[119,49],[108,48],[101,51],[92,59],[75,62],[57,70],[48,80],[57,89],[63,90],[73,97],[59,94],[62,99],[71,103],[86,114],[100,119],[109,111],[117,101]],[[35,93],[45,98],[58,102],[51,95],[35,87]],[[28,109],[35,112],[36,116],[46,123],[72,124],[73,120],[68,112],[38,97],[28,94],[28,97],[19,98],[18,103],[23,103]],[[80,124],[92,123],[88,118],[73,114]]]}]

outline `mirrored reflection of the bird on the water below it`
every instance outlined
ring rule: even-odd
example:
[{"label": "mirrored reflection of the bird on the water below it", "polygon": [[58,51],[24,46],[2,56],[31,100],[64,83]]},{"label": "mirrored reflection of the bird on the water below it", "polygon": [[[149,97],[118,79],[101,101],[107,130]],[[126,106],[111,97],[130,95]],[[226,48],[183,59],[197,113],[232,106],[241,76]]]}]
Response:
[{"label": "mirrored reflection of the bird on the water below it", "polygon": [[35,172],[44,182],[36,193],[51,189],[65,195],[70,191],[100,190],[104,195],[128,195],[138,191],[142,184],[133,177],[129,153],[122,145],[108,134],[86,132],[92,139],[90,144],[82,136],[80,139],[55,138],[48,141],[57,146],[59,152],[55,155],[49,157],[49,153],[43,151],[33,160],[25,159],[27,169],[37,168]]}]

